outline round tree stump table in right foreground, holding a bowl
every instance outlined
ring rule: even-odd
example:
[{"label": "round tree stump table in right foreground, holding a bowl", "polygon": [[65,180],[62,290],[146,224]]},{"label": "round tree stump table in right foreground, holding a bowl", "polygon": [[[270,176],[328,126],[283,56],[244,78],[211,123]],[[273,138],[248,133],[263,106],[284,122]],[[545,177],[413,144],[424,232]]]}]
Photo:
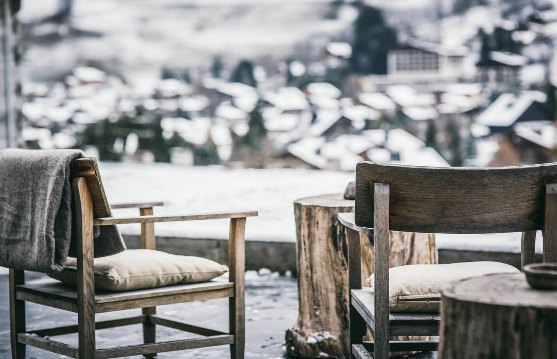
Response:
[{"label": "round tree stump table in right foreground, holding a bowl", "polygon": [[443,289],[439,359],[557,358],[557,291],[522,273],[490,274]]}]

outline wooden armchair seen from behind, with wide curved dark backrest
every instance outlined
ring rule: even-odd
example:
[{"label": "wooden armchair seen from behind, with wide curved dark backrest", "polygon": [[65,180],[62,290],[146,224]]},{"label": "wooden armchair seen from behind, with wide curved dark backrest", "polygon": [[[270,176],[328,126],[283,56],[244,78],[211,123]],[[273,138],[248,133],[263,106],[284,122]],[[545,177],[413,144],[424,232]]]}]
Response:
[{"label": "wooden armchair seen from behind, with wide curved dark backrest", "polygon": [[[438,313],[389,312],[389,229],[426,233],[522,233],[522,266],[557,262],[557,164],[507,168],[426,168],[361,162],[349,229],[350,343],[354,358],[386,359],[389,351],[436,350],[433,341],[390,336],[439,335]],[[374,283],[361,288],[359,233],[373,236]],[[362,342],[369,328],[374,342]]]}]

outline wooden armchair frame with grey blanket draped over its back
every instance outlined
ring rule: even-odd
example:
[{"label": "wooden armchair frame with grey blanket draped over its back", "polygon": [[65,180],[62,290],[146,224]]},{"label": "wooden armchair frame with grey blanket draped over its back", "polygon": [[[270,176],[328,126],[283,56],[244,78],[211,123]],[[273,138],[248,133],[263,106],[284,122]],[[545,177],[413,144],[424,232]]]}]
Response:
[{"label": "wooden armchair frame with grey blanket draped over its back", "polygon": [[[9,271],[9,309],[12,357],[25,358],[27,345],[79,359],[103,359],[122,356],[154,356],[158,352],[184,350],[216,345],[230,345],[231,357],[242,359],[245,345],[244,317],[244,226],[246,217],[257,212],[204,213],[189,215],[153,215],[153,206],[162,203],[114,205],[112,208],[139,208],[139,217],[106,218],[110,207],[100,181],[96,160],[82,158],[72,162],[72,190],[76,208],[77,228],[77,288],[54,280],[25,283],[23,271]],[[121,223],[141,223],[141,248],[155,249],[154,222],[230,218],[228,247],[229,281],[177,284],[130,292],[101,292],[94,290],[93,226]],[[194,326],[156,314],[163,304],[229,298],[229,333]],[[73,326],[26,330],[25,302],[33,302],[76,312],[78,323]],[[142,308],[140,316],[95,322],[95,313]],[[144,344],[96,349],[95,330],[143,324]],[[155,326],[162,325],[202,338],[155,342]],[[79,346],[53,341],[46,336],[78,333]],[[33,335],[35,334],[35,335]]]}]

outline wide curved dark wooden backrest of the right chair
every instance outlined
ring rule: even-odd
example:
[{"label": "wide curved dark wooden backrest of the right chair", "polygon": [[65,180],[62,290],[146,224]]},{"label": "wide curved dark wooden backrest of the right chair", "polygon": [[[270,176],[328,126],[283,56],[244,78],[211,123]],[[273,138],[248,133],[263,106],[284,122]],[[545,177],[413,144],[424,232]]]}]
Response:
[{"label": "wide curved dark wooden backrest of the right chair", "polygon": [[526,232],[544,227],[545,185],[557,183],[557,163],[428,168],[360,162],[355,204],[360,227],[373,228],[374,183],[389,184],[392,230]]}]

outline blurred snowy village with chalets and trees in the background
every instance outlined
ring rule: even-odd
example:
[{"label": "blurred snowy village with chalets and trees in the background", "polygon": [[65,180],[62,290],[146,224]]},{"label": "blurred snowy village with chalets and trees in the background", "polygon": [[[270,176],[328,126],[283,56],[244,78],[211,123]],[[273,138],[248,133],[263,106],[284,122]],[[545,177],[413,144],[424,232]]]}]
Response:
[{"label": "blurred snowy village with chalets and trees in the background", "polygon": [[[24,70],[38,62],[27,51],[103,40],[76,21],[73,3],[21,20]],[[344,26],[286,55],[174,60],[149,82],[112,59],[67,61],[50,77],[23,71],[20,137],[27,148],[79,148],[104,161],[231,168],[557,161],[553,3],[431,1],[416,12],[427,21],[404,3],[320,3],[321,22]]]}]

